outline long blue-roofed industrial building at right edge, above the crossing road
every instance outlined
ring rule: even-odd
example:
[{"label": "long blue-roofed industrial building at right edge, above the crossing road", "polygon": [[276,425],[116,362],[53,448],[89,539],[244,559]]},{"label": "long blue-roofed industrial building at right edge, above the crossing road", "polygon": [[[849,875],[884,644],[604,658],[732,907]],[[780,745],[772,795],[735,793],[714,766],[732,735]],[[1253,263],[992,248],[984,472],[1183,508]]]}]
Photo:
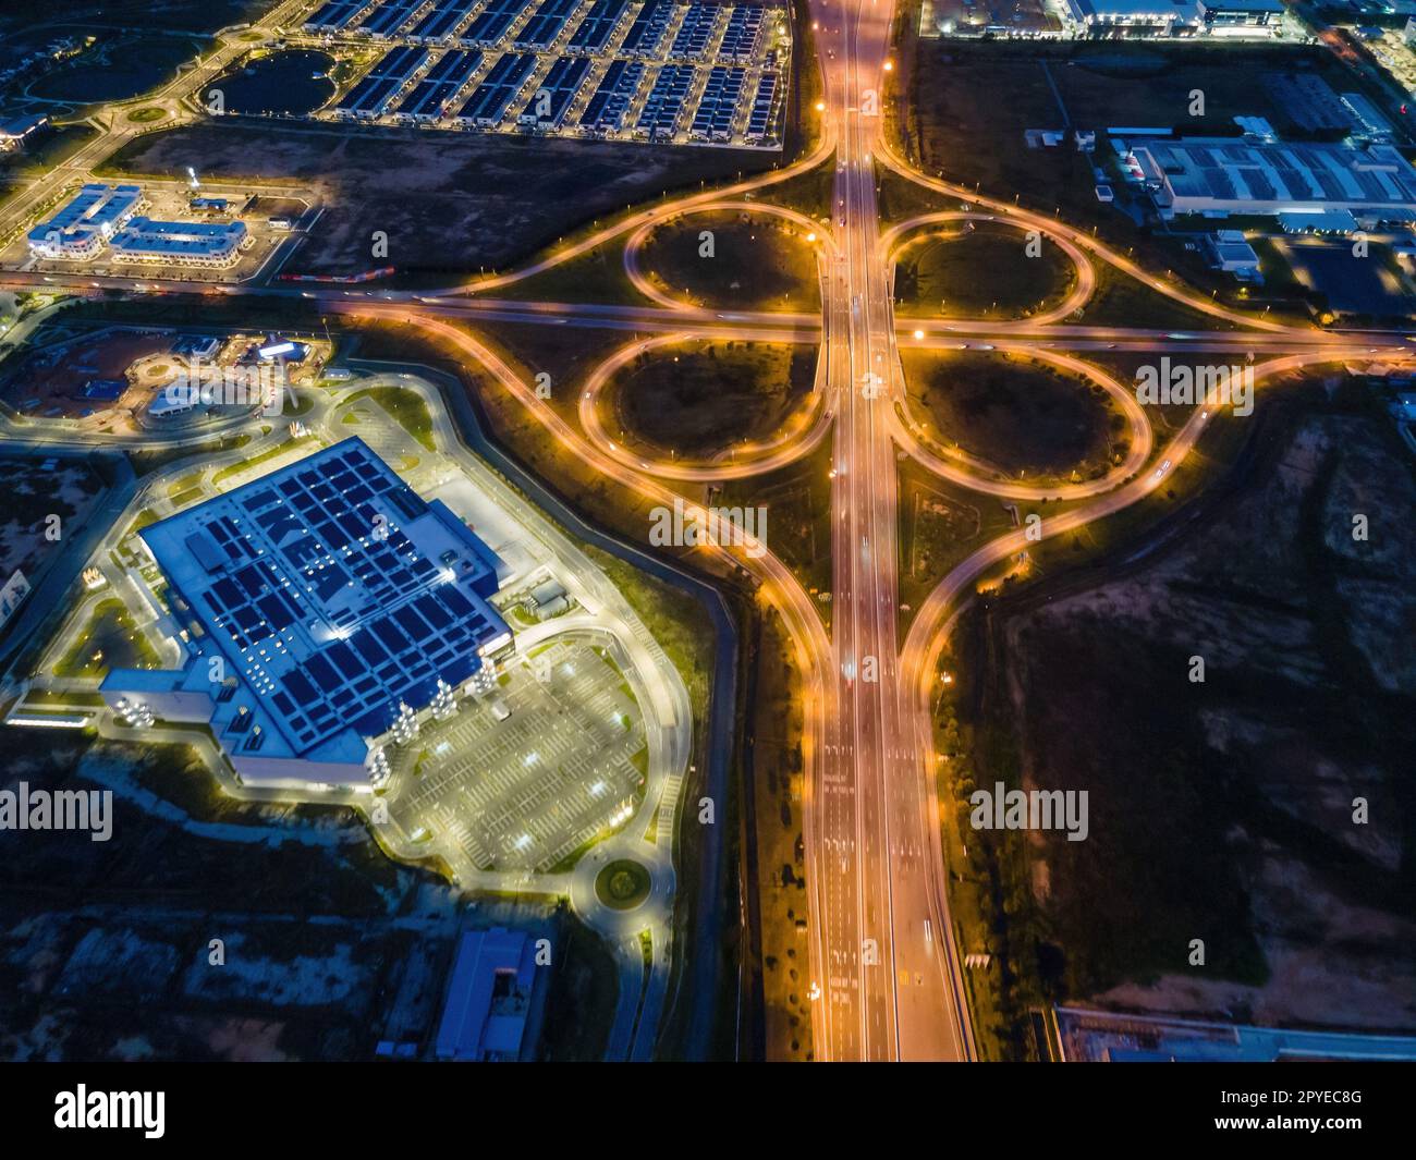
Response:
[{"label": "long blue-roofed industrial building at right edge, above the crossing road", "polygon": [[1164,218],[1416,210],[1416,170],[1389,144],[1187,137],[1137,142],[1126,160]]}]

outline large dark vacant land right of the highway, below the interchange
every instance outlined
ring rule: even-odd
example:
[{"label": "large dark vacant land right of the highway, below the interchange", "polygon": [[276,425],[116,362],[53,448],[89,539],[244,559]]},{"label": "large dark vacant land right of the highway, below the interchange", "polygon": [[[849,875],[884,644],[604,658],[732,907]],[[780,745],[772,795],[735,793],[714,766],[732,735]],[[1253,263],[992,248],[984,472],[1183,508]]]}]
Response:
[{"label": "large dark vacant land right of the highway, below the interchange", "polygon": [[1143,565],[990,618],[986,717],[1021,738],[1022,783],[1090,795],[1087,840],[1028,836],[1038,959],[1070,1000],[1409,1031],[1416,480],[1355,387],[1255,443]]}]

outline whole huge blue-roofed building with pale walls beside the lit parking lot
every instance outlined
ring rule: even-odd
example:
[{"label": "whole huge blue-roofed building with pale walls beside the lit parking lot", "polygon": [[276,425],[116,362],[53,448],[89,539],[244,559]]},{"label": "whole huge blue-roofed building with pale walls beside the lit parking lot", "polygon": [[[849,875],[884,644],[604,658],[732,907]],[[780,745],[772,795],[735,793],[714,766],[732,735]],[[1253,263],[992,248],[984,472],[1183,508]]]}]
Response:
[{"label": "whole huge blue-roofed building with pale walls beside the lit parking lot", "polygon": [[357,438],[140,535],[188,660],[113,670],[103,697],[210,725],[246,783],[370,789],[375,739],[511,643],[501,559]]}]

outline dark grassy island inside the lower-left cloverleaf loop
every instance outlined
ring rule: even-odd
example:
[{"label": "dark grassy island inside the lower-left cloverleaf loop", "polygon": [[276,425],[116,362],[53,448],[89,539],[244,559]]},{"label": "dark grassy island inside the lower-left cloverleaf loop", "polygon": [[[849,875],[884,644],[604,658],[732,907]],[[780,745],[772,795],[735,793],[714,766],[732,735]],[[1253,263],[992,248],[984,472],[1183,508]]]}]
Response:
[{"label": "dark grassy island inside the lower-left cloverleaf loop", "polygon": [[687,343],[647,351],[609,384],[619,433],[684,456],[772,439],[804,401],[816,347]]}]

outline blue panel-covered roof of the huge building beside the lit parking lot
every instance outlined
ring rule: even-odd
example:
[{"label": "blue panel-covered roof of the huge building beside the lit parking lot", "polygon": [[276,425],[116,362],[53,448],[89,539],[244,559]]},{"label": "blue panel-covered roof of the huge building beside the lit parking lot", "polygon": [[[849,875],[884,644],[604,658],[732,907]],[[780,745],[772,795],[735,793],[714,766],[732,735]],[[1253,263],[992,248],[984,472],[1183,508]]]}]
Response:
[{"label": "blue panel-covered roof of the huge building beside the lit parking lot", "polygon": [[[415,530],[422,520],[432,535]],[[409,534],[456,547],[429,559]],[[507,632],[486,603],[496,591],[486,545],[358,440],[143,535],[296,752],[351,728],[382,734],[401,701],[426,705],[439,680],[467,680],[481,667],[479,647]],[[246,752],[263,741],[252,720],[239,712],[227,727],[248,734]]]}]

